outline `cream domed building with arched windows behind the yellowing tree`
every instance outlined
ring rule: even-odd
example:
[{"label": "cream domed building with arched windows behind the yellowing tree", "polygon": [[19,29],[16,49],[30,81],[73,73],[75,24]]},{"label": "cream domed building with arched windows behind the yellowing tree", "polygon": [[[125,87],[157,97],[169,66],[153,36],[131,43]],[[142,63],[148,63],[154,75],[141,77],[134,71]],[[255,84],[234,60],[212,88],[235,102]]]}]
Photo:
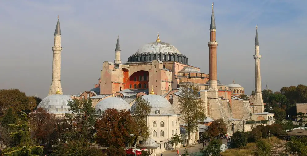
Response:
[{"label": "cream domed building with arched windows behind the yellowing tree", "polygon": [[[149,95],[142,96],[143,99],[148,100],[152,106],[150,114],[147,116],[147,126],[150,130],[150,137],[159,145],[155,153],[160,153],[167,148],[172,147],[167,145],[167,141],[173,137],[173,134],[180,134],[178,117],[173,106],[169,101],[160,96],[155,95],[153,90]],[[131,114],[134,114],[136,103],[131,106]],[[181,144],[177,145],[178,147]]]}]

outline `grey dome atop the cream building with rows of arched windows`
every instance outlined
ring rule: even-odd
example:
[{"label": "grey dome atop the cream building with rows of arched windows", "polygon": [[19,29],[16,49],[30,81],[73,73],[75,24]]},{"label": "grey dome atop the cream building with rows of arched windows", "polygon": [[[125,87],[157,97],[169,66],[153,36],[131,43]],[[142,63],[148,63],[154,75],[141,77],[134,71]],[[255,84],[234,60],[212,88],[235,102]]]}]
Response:
[{"label": "grey dome atop the cream building with rows of arched windows", "polygon": [[[166,98],[160,96],[160,95],[144,95],[142,97],[143,99],[147,99],[150,105],[152,106],[150,115],[166,115],[166,114],[175,114],[173,106],[169,103],[169,101],[166,100]],[[131,113],[133,114],[133,111],[135,109],[135,102],[131,106]]]}]

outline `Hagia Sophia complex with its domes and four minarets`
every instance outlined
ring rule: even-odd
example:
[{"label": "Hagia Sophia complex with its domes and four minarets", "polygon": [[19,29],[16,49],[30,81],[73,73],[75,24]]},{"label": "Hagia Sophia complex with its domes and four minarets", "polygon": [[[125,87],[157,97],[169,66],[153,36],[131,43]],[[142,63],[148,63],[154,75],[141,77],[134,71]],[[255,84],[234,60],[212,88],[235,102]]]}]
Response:
[{"label": "Hagia Sophia complex with its domes and four minarets", "polygon": [[[140,147],[149,147],[155,153],[168,150],[167,140],[174,133],[184,137],[185,123],[178,120],[178,109],[181,87],[193,86],[200,99],[204,101],[207,119],[199,121],[199,132],[208,129],[216,119],[223,119],[228,126],[228,134],[237,130],[249,131],[251,124],[245,121],[268,120],[274,123],[274,113],[264,112],[261,95],[261,76],[258,30],[255,38],[255,101],[249,102],[239,98],[245,94],[244,88],[235,83],[224,85],[217,80],[217,47],[216,24],[212,4],[210,23],[209,73],[189,64],[189,58],[175,46],[162,42],[159,33],[154,42],[147,43],[132,54],[127,61],[121,59],[119,36],[115,46],[114,61],[104,61],[98,83],[80,95],[63,95],[60,81],[61,74],[61,30],[59,19],[54,32],[52,84],[49,96],[44,98],[38,107],[43,107],[57,115],[70,112],[67,101],[74,98],[91,98],[96,114],[100,115],[107,108],[134,111],[134,102],[138,96],[147,99],[152,105],[147,117],[151,131],[150,139],[142,142]],[[207,55],[204,53],[204,55]],[[254,125],[255,127],[255,125]],[[190,143],[196,143],[199,133],[191,135]],[[180,144],[186,143],[186,139]],[[178,146],[180,146],[178,145]]]}]

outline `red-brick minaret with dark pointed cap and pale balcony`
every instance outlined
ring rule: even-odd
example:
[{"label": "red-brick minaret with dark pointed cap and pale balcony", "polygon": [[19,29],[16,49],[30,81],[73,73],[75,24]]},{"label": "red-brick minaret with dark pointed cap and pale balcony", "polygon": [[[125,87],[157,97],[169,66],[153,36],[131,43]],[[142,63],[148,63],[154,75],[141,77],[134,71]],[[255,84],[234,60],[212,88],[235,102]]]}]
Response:
[{"label": "red-brick minaret with dark pointed cap and pale balcony", "polygon": [[215,39],[216,27],[214,20],[213,12],[213,3],[212,3],[212,13],[211,13],[211,24],[210,24],[210,41],[208,42],[209,47],[209,93],[208,96],[212,98],[218,98],[217,90],[217,61],[216,61],[216,48],[217,42]]}]

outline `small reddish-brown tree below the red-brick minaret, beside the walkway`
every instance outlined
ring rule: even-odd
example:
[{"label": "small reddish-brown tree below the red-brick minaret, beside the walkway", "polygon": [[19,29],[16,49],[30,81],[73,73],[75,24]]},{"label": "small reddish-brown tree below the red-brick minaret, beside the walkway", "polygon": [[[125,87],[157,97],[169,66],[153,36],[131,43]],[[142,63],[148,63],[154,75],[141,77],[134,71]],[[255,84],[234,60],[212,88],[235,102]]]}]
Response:
[{"label": "small reddish-brown tree below the red-brick minaret, beside the walkway", "polygon": [[[220,123],[219,123],[220,122]],[[227,133],[227,125],[223,119],[217,119],[211,123],[208,128],[208,134],[211,138],[218,137],[220,134],[224,135]]]}]

